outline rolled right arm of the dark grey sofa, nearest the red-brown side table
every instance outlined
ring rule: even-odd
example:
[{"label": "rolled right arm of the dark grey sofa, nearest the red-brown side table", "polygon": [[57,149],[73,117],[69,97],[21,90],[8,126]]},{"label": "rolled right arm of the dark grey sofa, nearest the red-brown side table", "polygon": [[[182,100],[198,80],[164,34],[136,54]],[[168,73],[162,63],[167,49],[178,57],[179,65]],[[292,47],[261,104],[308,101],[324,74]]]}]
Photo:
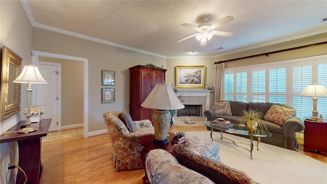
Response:
[{"label": "rolled right arm of the dark grey sofa, nearest the red-brown side table", "polygon": [[284,135],[293,135],[296,131],[302,131],[305,129],[305,124],[301,119],[292,117],[286,120],[282,126]]}]

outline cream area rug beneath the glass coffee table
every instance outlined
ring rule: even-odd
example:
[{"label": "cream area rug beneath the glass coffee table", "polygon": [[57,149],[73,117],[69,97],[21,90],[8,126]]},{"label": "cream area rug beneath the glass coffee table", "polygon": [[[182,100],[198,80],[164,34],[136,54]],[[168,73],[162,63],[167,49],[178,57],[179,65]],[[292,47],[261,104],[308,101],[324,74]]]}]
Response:
[{"label": "cream area rug beneath the glass coffee table", "polygon": [[[210,131],[185,133],[211,140]],[[223,136],[236,142],[250,142],[249,139],[228,133],[223,133]],[[220,132],[213,132],[213,139],[220,140]],[[256,141],[253,144],[256,145]],[[248,145],[239,145],[250,148]],[[248,150],[220,142],[220,157],[224,164],[246,172],[254,181],[261,184],[327,183],[327,164],[296,151],[265,143],[260,143],[259,148],[260,151],[254,147],[251,160]]]}]

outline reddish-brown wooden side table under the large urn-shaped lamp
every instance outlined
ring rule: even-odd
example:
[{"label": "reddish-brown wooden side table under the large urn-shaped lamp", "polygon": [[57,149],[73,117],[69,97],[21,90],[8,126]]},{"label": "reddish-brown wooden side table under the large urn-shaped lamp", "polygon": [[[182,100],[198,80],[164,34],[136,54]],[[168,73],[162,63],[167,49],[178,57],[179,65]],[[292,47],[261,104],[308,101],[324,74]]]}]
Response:
[{"label": "reddish-brown wooden side table under the large urn-shaped lamp", "polygon": [[[172,140],[174,136],[175,136],[175,133],[168,132],[168,140],[169,141]],[[142,160],[144,171],[145,171],[145,176],[143,176],[143,178],[142,178],[143,183],[146,183],[146,181],[149,180],[148,176],[147,176],[147,171],[145,168],[145,159],[146,159],[146,156],[149,153],[149,151],[151,151],[153,149],[163,149],[163,150],[166,150],[171,153],[173,151],[173,147],[174,147],[174,144],[172,144],[171,141],[166,145],[156,145],[156,144],[153,144],[153,140],[154,140],[154,135],[147,135],[147,136],[144,136],[141,139],[139,139],[139,142],[141,143],[141,145],[144,146],[144,148],[141,151],[141,160]],[[189,140],[186,139],[186,141],[182,144],[188,145]]]}]

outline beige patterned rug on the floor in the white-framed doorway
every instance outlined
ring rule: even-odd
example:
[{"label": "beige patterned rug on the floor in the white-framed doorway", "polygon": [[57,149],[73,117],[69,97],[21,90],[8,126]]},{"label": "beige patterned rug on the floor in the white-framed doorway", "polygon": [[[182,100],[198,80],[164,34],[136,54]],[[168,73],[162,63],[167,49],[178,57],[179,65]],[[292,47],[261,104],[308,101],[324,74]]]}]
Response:
[{"label": "beige patterned rug on the floor in the white-framed doorway", "polygon": [[48,135],[42,137],[42,143],[46,143],[49,141],[56,141],[61,139],[66,139],[69,137],[83,135],[83,128],[74,128],[69,130],[61,130],[61,131],[52,131],[48,132]]}]

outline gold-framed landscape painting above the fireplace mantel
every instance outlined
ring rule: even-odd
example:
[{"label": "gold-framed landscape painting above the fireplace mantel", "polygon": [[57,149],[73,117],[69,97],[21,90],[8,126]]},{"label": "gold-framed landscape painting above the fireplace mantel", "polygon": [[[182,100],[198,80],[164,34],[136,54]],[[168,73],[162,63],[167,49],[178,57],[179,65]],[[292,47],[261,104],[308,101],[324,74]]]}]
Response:
[{"label": "gold-framed landscape painting above the fireplace mantel", "polygon": [[176,66],[176,87],[204,88],[205,66]]}]

